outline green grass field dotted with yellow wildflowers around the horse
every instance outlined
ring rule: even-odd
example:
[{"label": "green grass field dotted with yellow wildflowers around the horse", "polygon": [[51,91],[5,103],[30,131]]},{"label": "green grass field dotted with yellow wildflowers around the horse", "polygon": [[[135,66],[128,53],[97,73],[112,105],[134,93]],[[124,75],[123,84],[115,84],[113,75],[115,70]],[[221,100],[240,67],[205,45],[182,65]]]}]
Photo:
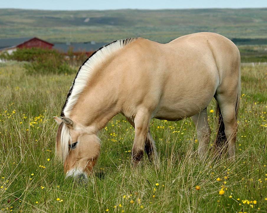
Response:
[{"label": "green grass field dotted with yellow wildflowers around the horse", "polygon": [[267,212],[267,66],[241,73],[235,162],[212,155],[215,101],[204,163],[190,118],[152,121],[159,170],[146,157],[131,169],[134,129],[117,115],[99,135],[100,158],[86,184],[65,179],[54,154],[52,116],[60,115],[75,73],[27,75],[22,63],[0,64],[0,212]]}]

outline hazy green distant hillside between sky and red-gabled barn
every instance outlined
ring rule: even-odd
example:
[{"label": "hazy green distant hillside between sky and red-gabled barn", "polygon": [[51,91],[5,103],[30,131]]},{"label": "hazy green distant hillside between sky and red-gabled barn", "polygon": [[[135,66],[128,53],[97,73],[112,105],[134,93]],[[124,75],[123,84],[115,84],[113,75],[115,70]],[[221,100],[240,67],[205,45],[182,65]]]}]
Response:
[{"label": "hazy green distant hillside between sky and red-gabled barn", "polygon": [[216,32],[230,39],[263,41],[267,39],[267,8],[107,11],[0,9],[0,29],[0,38],[37,36],[51,42],[109,42],[141,36],[165,43],[200,31]]}]

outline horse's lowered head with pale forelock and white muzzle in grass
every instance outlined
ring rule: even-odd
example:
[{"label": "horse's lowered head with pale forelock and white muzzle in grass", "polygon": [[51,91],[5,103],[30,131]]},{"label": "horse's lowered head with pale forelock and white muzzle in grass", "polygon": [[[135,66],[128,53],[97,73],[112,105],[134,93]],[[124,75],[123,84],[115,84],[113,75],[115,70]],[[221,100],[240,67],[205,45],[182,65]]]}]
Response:
[{"label": "horse's lowered head with pale forelock and white muzzle in grass", "polygon": [[100,139],[69,118],[53,118],[59,124],[56,155],[64,163],[66,177],[87,179],[100,153]]}]

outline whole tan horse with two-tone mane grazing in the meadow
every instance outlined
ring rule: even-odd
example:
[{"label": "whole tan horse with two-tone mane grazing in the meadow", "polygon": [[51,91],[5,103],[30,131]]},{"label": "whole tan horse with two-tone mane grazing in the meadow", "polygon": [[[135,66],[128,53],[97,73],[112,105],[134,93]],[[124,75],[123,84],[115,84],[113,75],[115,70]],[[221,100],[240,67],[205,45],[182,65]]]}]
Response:
[{"label": "whole tan horse with two-tone mane grazing in the meadow", "polygon": [[150,133],[152,118],[178,121],[192,117],[205,159],[211,130],[207,106],[217,100],[216,144],[228,143],[235,157],[240,99],[240,53],[232,41],[215,33],[195,33],[167,44],[143,38],[113,41],[80,67],[61,112],[56,154],[66,176],[87,177],[100,153],[99,130],[116,114],[135,128],[132,162],[144,150],[158,162]]}]

